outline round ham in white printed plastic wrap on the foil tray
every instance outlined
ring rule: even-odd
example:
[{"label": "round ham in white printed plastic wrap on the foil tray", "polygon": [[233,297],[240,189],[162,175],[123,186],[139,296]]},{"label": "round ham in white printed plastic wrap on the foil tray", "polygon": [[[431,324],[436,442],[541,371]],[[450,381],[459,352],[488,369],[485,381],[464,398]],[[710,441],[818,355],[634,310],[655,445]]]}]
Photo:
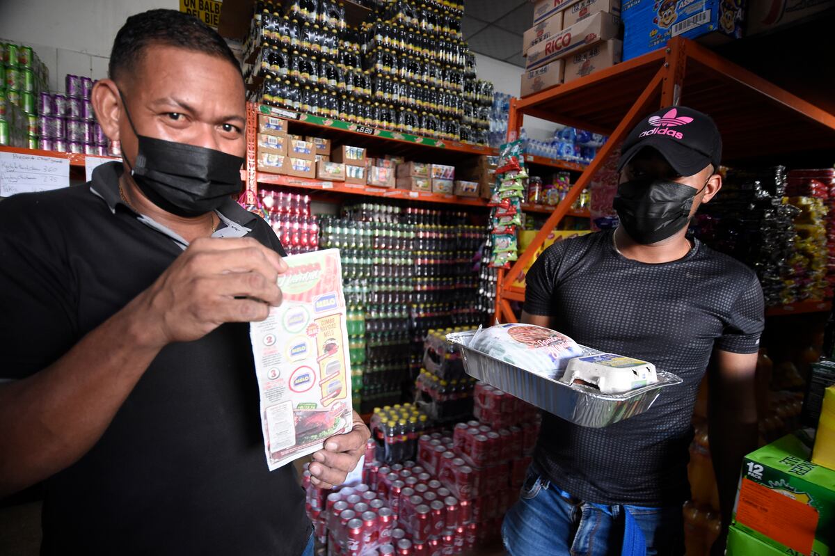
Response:
[{"label": "round ham in white printed plastic wrap on the foil tray", "polygon": [[559,378],[569,359],[583,355],[577,343],[543,326],[504,324],[484,328],[469,346],[543,377]]}]

